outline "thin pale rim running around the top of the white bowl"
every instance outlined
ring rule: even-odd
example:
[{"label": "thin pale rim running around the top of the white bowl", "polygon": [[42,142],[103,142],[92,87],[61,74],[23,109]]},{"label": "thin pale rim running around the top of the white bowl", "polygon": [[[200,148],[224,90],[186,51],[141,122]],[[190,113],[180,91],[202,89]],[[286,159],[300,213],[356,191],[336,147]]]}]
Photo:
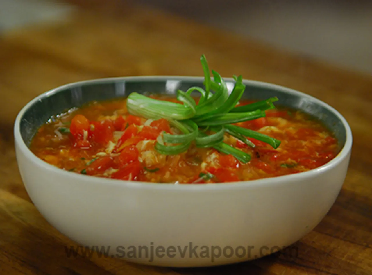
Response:
[{"label": "thin pale rim running around the top of the white bowl", "polygon": [[[223,78],[225,81],[234,81],[232,78]],[[51,89],[47,92],[41,93],[40,95],[33,98],[29,101],[23,108],[19,111],[15,123],[14,123],[14,139],[15,139],[15,146],[18,146],[20,151],[22,151],[23,155],[26,156],[29,162],[33,162],[36,165],[40,166],[42,169],[46,169],[49,172],[57,173],[63,177],[70,178],[71,181],[74,181],[74,184],[79,184],[77,182],[89,182],[89,184],[95,185],[110,185],[110,186],[121,186],[126,188],[140,188],[140,189],[162,189],[162,190],[188,190],[188,191],[200,191],[200,190],[223,190],[223,189],[231,189],[231,188],[247,188],[247,187],[256,187],[256,186],[272,186],[277,185],[282,182],[291,182],[293,180],[301,181],[306,178],[312,178],[316,175],[322,174],[328,170],[333,169],[337,165],[339,165],[350,153],[352,148],[352,131],[347,123],[346,119],[339,113],[336,109],[332,106],[328,105],[327,103],[317,99],[314,96],[310,96],[306,93],[299,92],[298,90],[294,90],[285,86],[280,86],[278,84],[267,83],[263,81],[257,80],[248,80],[244,79],[243,83],[251,84],[254,86],[259,87],[267,87],[270,89],[279,90],[282,93],[289,93],[289,94],[297,94],[301,97],[305,97],[311,99],[313,102],[327,108],[331,112],[333,112],[342,122],[343,127],[346,130],[346,138],[343,147],[341,148],[340,152],[332,159],[330,162],[312,170],[308,170],[305,172],[283,175],[283,176],[276,176],[272,178],[262,178],[262,179],[254,179],[254,180],[243,180],[239,182],[225,182],[225,183],[205,183],[205,184],[174,184],[174,183],[153,183],[153,182],[140,182],[140,181],[126,181],[126,180],[119,180],[119,179],[110,179],[110,178],[98,178],[89,175],[83,175],[78,173],[71,173],[67,170],[63,170],[61,168],[55,167],[52,164],[44,162],[43,160],[39,159],[32,151],[28,148],[25,141],[22,138],[20,133],[20,122],[22,119],[23,114],[31,108],[36,102],[39,100],[52,96],[56,93],[63,92],[63,90],[77,87],[77,86],[86,86],[89,84],[102,84],[102,83],[114,83],[115,81],[151,81],[151,80],[189,80],[189,81],[202,81],[204,77],[199,76],[125,76],[125,77],[108,77],[108,78],[100,78],[100,79],[90,79],[90,80],[82,80],[76,81],[68,84],[64,84],[62,86],[56,87]]]}]

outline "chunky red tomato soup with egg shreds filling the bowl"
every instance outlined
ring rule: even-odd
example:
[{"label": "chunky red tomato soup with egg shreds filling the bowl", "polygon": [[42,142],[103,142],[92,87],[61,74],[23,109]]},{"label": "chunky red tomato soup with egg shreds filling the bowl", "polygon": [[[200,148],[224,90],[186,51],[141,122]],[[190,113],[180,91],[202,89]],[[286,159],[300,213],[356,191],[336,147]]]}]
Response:
[{"label": "chunky red tomato soup with egg shreds filling the bowl", "polygon": [[331,132],[301,111],[270,109],[265,117],[235,125],[276,138],[280,146],[274,149],[253,138],[248,140],[254,146],[248,146],[225,133],[224,143],[249,154],[249,162],[195,144],[180,154],[160,154],[155,150],[158,136],[164,131],[177,134],[178,129],[166,119],[130,115],[126,99],[116,99],[91,102],[50,118],[30,149],[72,173],[154,183],[222,183],[289,175],[322,166],[339,151]]}]

